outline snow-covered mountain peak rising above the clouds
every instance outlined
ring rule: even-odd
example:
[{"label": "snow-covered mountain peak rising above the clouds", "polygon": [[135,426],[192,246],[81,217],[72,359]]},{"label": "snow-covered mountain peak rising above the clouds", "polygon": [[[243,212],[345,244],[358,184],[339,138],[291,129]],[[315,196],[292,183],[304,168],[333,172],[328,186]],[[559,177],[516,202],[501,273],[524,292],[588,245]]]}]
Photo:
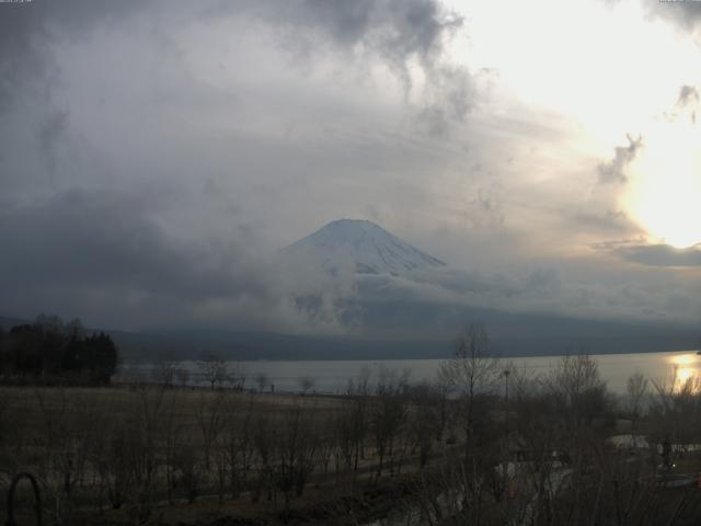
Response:
[{"label": "snow-covered mountain peak rising above the clouds", "polygon": [[366,220],[338,219],[280,250],[284,260],[314,264],[336,274],[401,275],[446,264]]}]

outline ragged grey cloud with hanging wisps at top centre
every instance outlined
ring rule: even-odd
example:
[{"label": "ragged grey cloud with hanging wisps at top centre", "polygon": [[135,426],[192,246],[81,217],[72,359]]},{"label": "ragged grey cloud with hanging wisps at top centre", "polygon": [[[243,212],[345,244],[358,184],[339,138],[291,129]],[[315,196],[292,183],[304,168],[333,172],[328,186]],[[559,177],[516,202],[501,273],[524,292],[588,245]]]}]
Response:
[{"label": "ragged grey cloud with hanging wisps at top centre", "polygon": [[415,61],[427,83],[418,119],[430,135],[445,136],[450,123],[462,122],[474,106],[476,89],[469,70],[441,60],[445,45],[464,21],[436,0],[225,2],[212,12],[219,10],[265,21],[277,28],[285,48],[306,61],[330,50],[350,59],[377,58],[401,80],[406,95]]}]

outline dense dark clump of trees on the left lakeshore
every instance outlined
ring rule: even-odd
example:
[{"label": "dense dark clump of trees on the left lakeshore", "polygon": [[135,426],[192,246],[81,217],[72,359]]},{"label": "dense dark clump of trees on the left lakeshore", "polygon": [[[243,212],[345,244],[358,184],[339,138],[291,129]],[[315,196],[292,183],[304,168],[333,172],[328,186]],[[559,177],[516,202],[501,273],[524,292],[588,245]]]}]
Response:
[{"label": "dense dark clump of trees on the left lakeshore", "polygon": [[0,329],[0,378],[5,382],[104,385],[118,359],[112,338],[88,333],[79,319],[64,323],[58,316],[41,315],[33,323]]}]

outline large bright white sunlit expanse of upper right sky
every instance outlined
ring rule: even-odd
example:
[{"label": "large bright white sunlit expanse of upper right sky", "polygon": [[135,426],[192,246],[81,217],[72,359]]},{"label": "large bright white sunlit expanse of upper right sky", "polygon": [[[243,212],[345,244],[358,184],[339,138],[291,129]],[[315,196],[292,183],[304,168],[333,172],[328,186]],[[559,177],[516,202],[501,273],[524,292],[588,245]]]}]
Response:
[{"label": "large bright white sunlit expanse of upper right sky", "polygon": [[[690,72],[696,43],[640,2],[533,0],[509,5],[509,13],[498,2],[468,2],[471,37],[457,39],[453,55],[496,71],[503,96],[566,115],[581,132],[576,148],[591,157],[610,158],[627,133],[641,135],[644,148],[624,167],[627,184],[612,188],[624,192],[620,209],[650,242],[701,242],[701,112],[694,124],[691,105],[675,106],[682,84],[699,83]],[[544,13],[560,23],[543,24]]]}]

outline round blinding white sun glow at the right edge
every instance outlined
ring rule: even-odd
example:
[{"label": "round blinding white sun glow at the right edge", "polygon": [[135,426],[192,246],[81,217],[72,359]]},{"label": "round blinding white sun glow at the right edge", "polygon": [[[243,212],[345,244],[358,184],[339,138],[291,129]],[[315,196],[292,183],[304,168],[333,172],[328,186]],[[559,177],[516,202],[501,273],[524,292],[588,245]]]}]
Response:
[{"label": "round blinding white sun glow at the right edge", "polygon": [[654,242],[687,248],[701,242],[701,127],[657,123],[631,167],[624,207]]}]

